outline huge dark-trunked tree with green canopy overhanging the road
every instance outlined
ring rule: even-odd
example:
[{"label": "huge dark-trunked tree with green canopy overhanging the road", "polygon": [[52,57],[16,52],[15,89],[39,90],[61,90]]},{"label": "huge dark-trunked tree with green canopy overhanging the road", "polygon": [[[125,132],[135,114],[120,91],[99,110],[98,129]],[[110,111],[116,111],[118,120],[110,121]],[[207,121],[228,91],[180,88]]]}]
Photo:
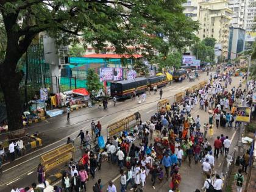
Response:
[{"label": "huge dark-trunked tree with green canopy overhanging the road", "polygon": [[194,43],[199,24],[182,13],[182,2],[0,0],[2,28],[7,37],[0,63],[0,85],[9,130],[23,127],[19,87],[24,73],[16,66],[38,33],[47,32],[57,44],[63,45],[78,43],[80,37],[99,50],[109,42],[118,54],[129,51],[127,46],[143,45],[143,55],[151,57],[163,48],[165,40],[178,49]]}]

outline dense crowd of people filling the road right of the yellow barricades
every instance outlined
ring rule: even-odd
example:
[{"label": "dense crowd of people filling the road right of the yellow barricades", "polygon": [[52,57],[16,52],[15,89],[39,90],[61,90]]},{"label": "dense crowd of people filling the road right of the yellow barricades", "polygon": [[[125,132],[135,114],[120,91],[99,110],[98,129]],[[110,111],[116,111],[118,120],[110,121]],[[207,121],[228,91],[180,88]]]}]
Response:
[{"label": "dense crowd of people filling the road right of the yellow barricades", "polygon": [[[191,79],[190,79],[191,80]],[[187,92],[181,102],[173,104],[166,103],[164,107],[146,122],[140,121],[132,133],[123,132],[121,135],[108,138],[105,143],[107,162],[117,164],[120,172],[121,192],[130,190],[143,191],[147,178],[150,177],[149,185],[155,189],[156,183],[169,182],[171,191],[179,191],[182,182],[180,167],[187,162],[188,166],[194,162],[202,163],[202,176],[204,183],[201,190],[222,191],[222,179],[219,174],[213,175],[215,169],[215,158],[220,155],[227,156],[231,145],[230,138],[221,134],[214,140],[215,127],[227,127],[227,129],[237,128],[240,125],[236,121],[236,106],[246,102],[252,107],[252,91],[255,82],[250,80],[243,88],[241,82],[238,87],[230,88],[232,84],[232,69],[222,73],[210,74],[207,84],[199,90]],[[161,90],[162,91],[162,90]],[[162,98],[163,91],[160,93]],[[146,99],[146,94],[142,97],[142,102]],[[141,100],[141,98],[139,98]],[[141,101],[140,101],[141,102]],[[200,116],[195,118],[191,111],[196,106],[208,113],[208,121],[202,121]],[[87,146],[91,143],[93,135],[95,138],[101,135],[101,124],[91,123],[91,134],[81,130],[77,137],[80,137],[80,145]],[[130,141],[130,137],[138,137],[138,143]],[[68,141],[68,143],[71,141]],[[104,151],[86,148],[84,155],[79,162],[72,159],[69,163],[69,170],[63,173],[62,187],[54,186],[54,191],[91,191],[87,190],[86,182],[94,179],[96,169],[101,169]],[[244,162],[243,162],[244,161]],[[243,185],[241,175],[246,172],[247,155],[243,155],[241,160],[243,169],[235,176],[238,187]],[[38,166],[38,182],[44,183],[44,172]],[[102,181],[99,179],[93,185],[94,192],[102,191]],[[35,191],[35,190],[34,190]],[[112,181],[108,182],[108,192],[116,192],[116,186]],[[196,190],[197,191],[197,190]],[[200,190],[199,190],[200,191]],[[16,192],[16,191],[15,191]]]}]

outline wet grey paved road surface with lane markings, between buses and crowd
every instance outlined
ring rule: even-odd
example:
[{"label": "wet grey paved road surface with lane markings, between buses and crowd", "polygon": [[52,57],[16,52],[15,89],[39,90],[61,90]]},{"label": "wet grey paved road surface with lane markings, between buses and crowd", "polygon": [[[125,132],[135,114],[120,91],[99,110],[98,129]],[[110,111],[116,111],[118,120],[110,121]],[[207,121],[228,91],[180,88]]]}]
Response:
[{"label": "wet grey paved road surface with lane markings, between buses and crowd", "polygon": [[[198,84],[200,81],[206,79],[205,74],[201,75],[200,80],[195,82],[188,82],[187,80],[180,83],[174,83],[169,87],[164,88],[163,97],[169,98],[171,102],[174,101],[174,94],[179,93],[182,90],[185,90],[188,87]],[[238,84],[238,77],[234,77],[233,84]],[[233,85],[232,84],[232,85]],[[90,130],[91,119],[94,121],[100,120],[103,125],[102,134],[106,135],[106,129],[108,124],[115,122],[116,120],[123,118],[130,113],[139,111],[142,115],[143,121],[150,118],[150,116],[157,110],[157,101],[159,101],[159,95],[151,94],[146,99],[146,103],[138,105],[137,102],[126,100],[125,102],[118,102],[116,107],[113,107],[113,104],[108,105],[107,110],[100,110],[99,108],[83,108],[77,112],[71,113],[70,121],[66,121],[66,116],[58,116],[55,118],[48,119],[42,123],[35,124],[34,126],[27,127],[26,131],[28,133],[34,133],[35,131],[42,132],[41,138],[43,138],[44,147],[38,149],[32,154],[28,154],[25,157],[16,160],[12,165],[4,165],[3,174],[1,176],[0,191],[10,191],[12,185],[17,185],[19,187],[24,185],[30,185],[32,182],[37,181],[35,174],[36,167],[40,162],[41,154],[48,152],[54,148],[65,143],[67,137],[74,138],[78,134],[80,129]],[[201,116],[201,119],[208,121],[207,113],[202,112],[197,107],[193,110],[193,116],[197,114]],[[219,129],[215,131],[215,135],[224,133],[229,135],[231,138],[233,131],[228,129]],[[3,137],[4,135],[1,135]],[[233,143],[237,141],[236,135],[233,137]],[[213,141],[213,140],[212,140]],[[222,158],[219,158],[217,163],[221,163]],[[217,165],[217,164],[216,164]],[[107,170],[107,171],[106,171]],[[200,165],[193,166],[188,168],[186,163],[182,166],[180,172],[182,174],[182,184],[181,191],[191,191],[189,189],[195,187],[201,187],[201,174],[198,174],[198,170],[201,170]],[[189,174],[188,174],[189,172]],[[96,173],[97,177],[101,177],[103,182],[106,184],[108,180],[115,180],[116,186],[119,187],[119,178],[118,178],[118,168],[114,165],[109,165],[107,162],[103,163],[102,171]],[[191,177],[193,176],[193,177]],[[150,178],[148,178],[150,179]],[[150,180],[147,181],[149,183]],[[88,187],[94,182],[88,182]],[[168,191],[169,182],[165,184],[162,183],[161,186],[156,186],[159,191]],[[147,191],[151,191],[152,188],[149,184],[145,188]]]}]

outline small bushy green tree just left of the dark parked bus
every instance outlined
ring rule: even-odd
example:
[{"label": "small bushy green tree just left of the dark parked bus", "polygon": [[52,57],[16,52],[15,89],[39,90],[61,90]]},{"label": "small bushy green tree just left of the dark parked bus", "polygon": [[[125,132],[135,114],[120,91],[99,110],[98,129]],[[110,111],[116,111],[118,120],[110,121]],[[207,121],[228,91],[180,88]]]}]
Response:
[{"label": "small bushy green tree just left of the dark parked bus", "polygon": [[99,76],[95,73],[94,69],[88,69],[87,71],[87,90],[92,93],[91,91],[98,91],[102,88],[102,84],[99,81]]}]

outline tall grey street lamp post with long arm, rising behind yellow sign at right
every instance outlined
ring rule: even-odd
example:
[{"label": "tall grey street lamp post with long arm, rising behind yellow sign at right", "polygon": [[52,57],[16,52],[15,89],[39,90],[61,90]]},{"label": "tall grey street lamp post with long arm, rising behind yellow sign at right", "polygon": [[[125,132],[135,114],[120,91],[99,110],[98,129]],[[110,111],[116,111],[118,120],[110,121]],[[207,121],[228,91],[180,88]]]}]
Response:
[{"label": "tall grey street lamp post with long arm, rising behind yellow sign at right", "polygon": [[[236,54],[236,55],[242,55],[242,56],[248,58],[247,75],[246,75],[246,91],[244,91],[244,101],[243,101],[243,107],[246,107],[246,95],[247,95],[247,91],[248,91],[247,84],[248,84],[249,72],[250,72],[250,66],[251,66],[251,55],[244,55],[244,54],[239,54],[237,52],[224,51],[222,49],[218,49],[218,50],[223,51],[223,52],[229,52],[229,53]],[[244,123],[241,123],[240,132],[239,132],[239,140],[238,140],[238,154],[241,153],[243,129],[244,129]]]}]

